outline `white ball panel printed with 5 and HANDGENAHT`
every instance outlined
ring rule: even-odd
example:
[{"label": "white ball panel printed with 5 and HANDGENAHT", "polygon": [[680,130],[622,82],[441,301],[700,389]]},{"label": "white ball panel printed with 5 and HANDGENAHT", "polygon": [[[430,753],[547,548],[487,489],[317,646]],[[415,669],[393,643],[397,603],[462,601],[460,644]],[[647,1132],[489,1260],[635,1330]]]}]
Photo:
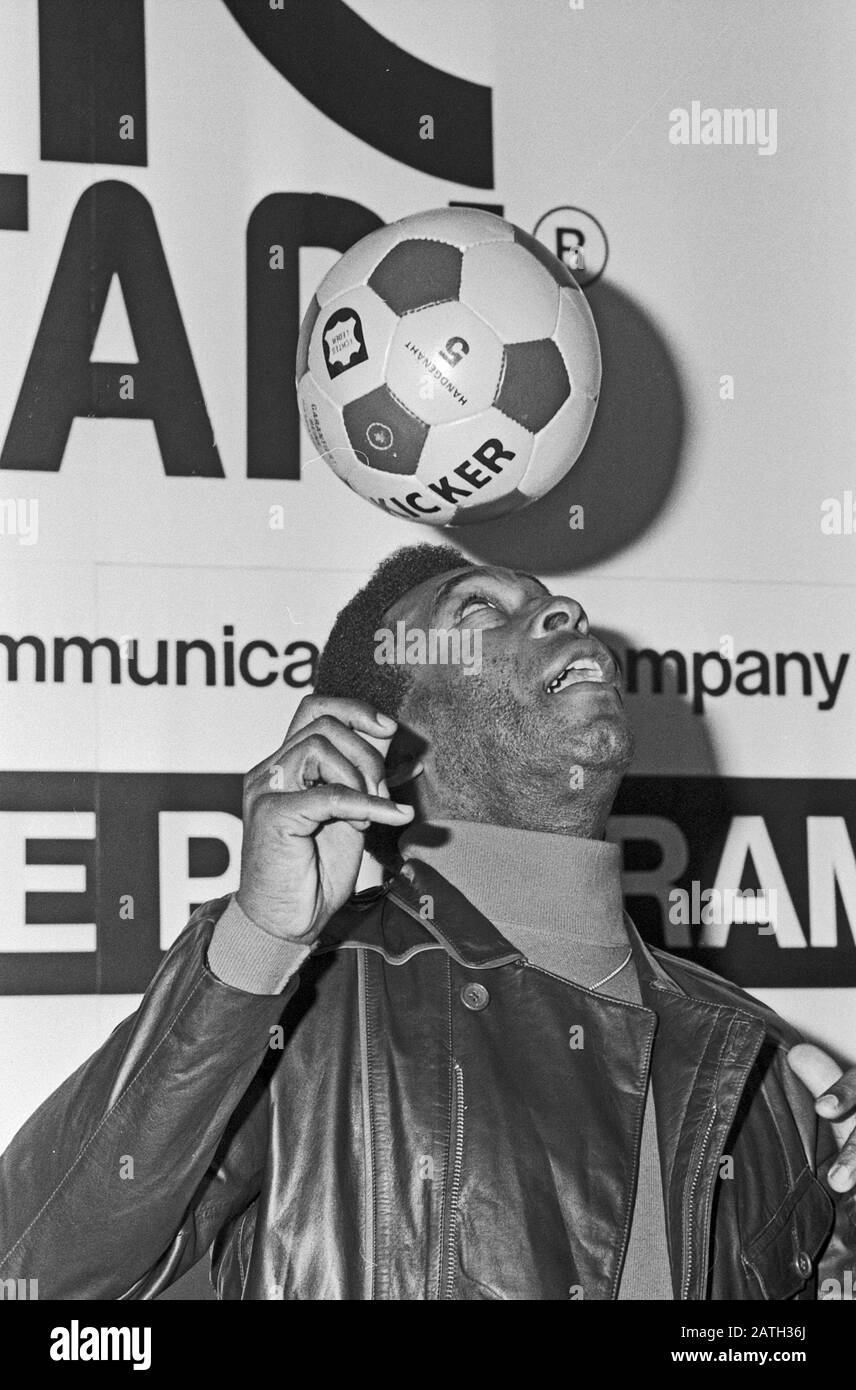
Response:
[{"label": "white ball panel printed with 5 and HANDGENAHT", "polygon": [[445,424],[486,410],[502,374],[502,343],[457,300],[399,320],[386,359],[393,395],[420,420]]}]

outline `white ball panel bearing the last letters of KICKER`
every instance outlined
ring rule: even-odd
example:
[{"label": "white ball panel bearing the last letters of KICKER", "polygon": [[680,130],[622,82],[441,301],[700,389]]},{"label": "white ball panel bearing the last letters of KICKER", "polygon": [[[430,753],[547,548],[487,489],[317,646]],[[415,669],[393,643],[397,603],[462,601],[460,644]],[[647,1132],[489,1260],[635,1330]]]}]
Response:
[{"label": "white ball panel bearing the last letters of KICKER", "polygon": [[422,448],[418,482],[454,507],[504,498],[518,485],[532,450],[528,430],[497,410],[434,425]]}]

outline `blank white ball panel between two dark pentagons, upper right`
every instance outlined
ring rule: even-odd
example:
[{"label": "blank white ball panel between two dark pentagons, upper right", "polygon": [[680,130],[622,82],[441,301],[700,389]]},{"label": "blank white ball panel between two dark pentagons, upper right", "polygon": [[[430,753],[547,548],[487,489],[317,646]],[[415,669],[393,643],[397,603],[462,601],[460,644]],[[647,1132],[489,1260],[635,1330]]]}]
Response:
[{"label": "blank white ball panel between two dark pentagons, upper right", "polygon": [[460,297],[506,343],[550,338],[559,318],[556,281],[514,242],[464,252]]}]

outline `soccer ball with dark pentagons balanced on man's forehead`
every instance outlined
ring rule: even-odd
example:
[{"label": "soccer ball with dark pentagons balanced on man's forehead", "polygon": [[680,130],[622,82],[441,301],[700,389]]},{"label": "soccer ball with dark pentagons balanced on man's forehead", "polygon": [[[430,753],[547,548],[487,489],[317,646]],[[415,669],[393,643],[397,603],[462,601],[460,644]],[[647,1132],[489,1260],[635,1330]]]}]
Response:
[{"label": "soccer ball with dark pentagons balanced on man's forehead", "polygon": [[600,388],[567,267],[493,213],[438,208],[378,228],[324,277],[297,342],[317,452],[393,516],[482,521],[577,461]]}]

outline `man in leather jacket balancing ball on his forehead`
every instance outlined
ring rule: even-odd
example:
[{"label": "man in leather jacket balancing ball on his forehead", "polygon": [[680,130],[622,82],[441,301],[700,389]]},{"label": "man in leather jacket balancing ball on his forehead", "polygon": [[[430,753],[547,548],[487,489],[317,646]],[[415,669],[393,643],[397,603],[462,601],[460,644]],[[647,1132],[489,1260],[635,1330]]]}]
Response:
[{"label": "man in leather jacket balancing ball on his forehead", "polygon": [[[375,660],[402,621],[479,669]],[[151,1298],[210,1250],[221,1298],[842,1297],[856,1069],[642,942],[603,838],[631,752],[579,603],[390,556],[246,777],[238,892],[6,1152],[0,1277]]]}]

